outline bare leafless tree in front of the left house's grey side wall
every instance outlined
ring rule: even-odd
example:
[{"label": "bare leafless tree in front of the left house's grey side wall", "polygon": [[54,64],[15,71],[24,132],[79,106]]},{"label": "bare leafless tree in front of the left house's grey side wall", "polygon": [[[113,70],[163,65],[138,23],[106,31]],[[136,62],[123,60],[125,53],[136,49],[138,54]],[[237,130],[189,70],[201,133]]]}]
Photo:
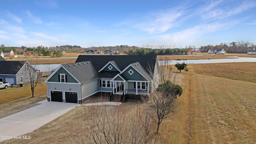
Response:
[{"label": "bare leafless tree in front of the left house's grey side wall", "polygon": [[18,66],[18,69],[20,70],[20,76],[22,77],[23,82],[29,82],[30,87],[31,87],[31,92],[32,92],[32,97],[34,96],[34,90],[38,84],[38,75],[37,75],[37,70],[36,66],[32,66],[29,62],[27,61],[20,61],[22,65]]}]

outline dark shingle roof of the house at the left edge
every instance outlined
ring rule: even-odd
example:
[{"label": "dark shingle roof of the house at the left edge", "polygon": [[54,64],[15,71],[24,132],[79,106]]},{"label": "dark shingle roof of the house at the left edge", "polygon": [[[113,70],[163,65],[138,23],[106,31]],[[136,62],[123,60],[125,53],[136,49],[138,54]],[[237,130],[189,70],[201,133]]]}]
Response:
[{"label": "dark shingle roof of the house at the left edge", "polygon": [[0,61],[0,74],[17,74],[27,61]]}]

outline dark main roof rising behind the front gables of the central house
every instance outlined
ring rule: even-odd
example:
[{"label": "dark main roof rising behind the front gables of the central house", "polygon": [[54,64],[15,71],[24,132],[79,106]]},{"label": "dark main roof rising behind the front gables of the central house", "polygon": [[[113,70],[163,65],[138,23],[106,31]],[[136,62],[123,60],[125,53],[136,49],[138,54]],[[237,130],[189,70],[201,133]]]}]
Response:
[{"label": "dark main roof rising behind the front gables of the central house", "polygon": [[76,59],[76,62],[84,61],[91,61],[97,72],[110,61],[115,61],[116,65],[120,68],[121,71],[123,71],[130,64],[139,62],[149,76],[150,72],[154,72],[155,64],[158,64],[156,55],[80,55]]}]

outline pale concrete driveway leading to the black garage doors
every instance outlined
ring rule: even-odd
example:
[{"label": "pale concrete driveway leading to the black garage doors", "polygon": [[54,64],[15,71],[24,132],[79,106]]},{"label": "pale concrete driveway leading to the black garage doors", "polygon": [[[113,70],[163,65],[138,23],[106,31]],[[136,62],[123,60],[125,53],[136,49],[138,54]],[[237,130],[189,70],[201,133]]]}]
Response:
[{"label": "pale concrete driveway leading to the black garage doors", "polygon": [[[80,106],[80,104],[47,102],[47,100],[38,103],[40,105],[1,118],[0,136],[12,136],[13,138],[14,136],[27,134]],[[2,137],[0,138],[0,142],[4,140]]]}]

